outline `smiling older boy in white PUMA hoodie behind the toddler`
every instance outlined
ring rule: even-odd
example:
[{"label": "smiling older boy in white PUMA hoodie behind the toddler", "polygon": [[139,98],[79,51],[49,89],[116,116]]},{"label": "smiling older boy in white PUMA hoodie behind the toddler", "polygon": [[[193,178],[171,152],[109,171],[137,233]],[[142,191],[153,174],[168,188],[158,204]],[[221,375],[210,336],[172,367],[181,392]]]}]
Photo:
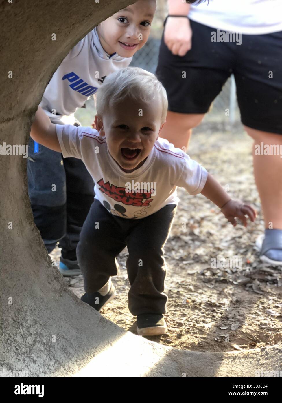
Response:
[{"label": "smiling older boy in white PUMA hoodie behind the toddler", "polygon": [[[107,75],[128,66],[146,43],[156,0],[139,0],[109,17],[69,52],[40,106],[53,123],[79,125],[74,112],[96,93]],[[93,203],[94,183],[82,161],[65,159],[31,139],[28,187],[35,224],[50,253],[60,241],[60,272],[80,274],[76,258],[83,222]]]}]

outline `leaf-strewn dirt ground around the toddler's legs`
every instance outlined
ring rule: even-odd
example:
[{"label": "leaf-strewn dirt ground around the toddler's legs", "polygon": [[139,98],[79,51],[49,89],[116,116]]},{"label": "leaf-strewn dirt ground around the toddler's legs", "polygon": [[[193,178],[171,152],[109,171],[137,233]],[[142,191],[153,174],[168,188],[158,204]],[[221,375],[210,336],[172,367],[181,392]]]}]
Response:
[{"label": "leaf-strewn dirt ground around the toddler's legs", "polygon": [[[203,125],[194,131],[188,154],[231,197],[253,204],[258,217],[247,229],[241,224],[233,228],[204,196],[178,189],[180,203],[165,246],[168,332],[148,339],[202,352],[253,349],[282,341],[282,271],[263,264],[254,249],[263,232],[263,220],[253,179],[251,143],[241,126],[225,133],[220,127],[214,131]],[[124,249],[117,259],[120,272],[112,278],[117,295],[101,314],[136,334],[136,318],[128,310],[127,254]],[[58,246],[50,256],[59,264]],[[222,258],[234,258],[241,265],[216,268],[211,259],[217,257],[223,262]],[[65,281],[81,297],[82,276]]]}]

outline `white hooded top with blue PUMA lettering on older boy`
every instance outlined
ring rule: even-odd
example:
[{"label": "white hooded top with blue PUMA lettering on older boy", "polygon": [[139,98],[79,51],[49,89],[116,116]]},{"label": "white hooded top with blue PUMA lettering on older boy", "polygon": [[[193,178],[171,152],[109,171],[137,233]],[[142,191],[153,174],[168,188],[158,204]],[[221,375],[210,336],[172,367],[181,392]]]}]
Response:
[{"label": "white hooded top with blue PUMA lettering on older boy", "polygon": [[107,75],[127,67],[131,60],[117,53],[107,54],[95,27],[64,58],[45,89],[41,108],[52,122],[58,123],[63,115],[72,115],[83,106]]}]

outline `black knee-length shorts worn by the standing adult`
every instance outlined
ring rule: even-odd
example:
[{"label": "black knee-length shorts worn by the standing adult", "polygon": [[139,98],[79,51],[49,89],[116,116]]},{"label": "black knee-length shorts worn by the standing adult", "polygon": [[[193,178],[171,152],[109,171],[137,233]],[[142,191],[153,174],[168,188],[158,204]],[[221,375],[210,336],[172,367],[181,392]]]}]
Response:
[{"label": "black knee-length shorts worn by the standing adult", "polygon": [[[163,37],[161,40],[156,76],[167,90],[169,110],[208,112],[233,73],[242,123],[282,134],[282,31],[242,35],[242,43],[237,45],[211,42],[216,28],[190,23],[192,48],[185,56],[173,55]],[[186,78],[182,78],[183,72]]]}]

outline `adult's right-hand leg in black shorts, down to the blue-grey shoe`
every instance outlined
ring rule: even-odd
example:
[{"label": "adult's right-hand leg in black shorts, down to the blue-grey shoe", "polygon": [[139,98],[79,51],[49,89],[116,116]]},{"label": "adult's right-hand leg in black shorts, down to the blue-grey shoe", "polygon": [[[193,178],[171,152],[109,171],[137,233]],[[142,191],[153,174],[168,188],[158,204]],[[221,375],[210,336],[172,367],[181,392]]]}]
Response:
[{"label": "adult's right-hand leg in black shorts, down to the blue-grey shoe", "polygon": [[[282,265],[281,53],[282,31],[243,35],[234,72],[242,123],[262,154],[253,150],[255,181],[266,228],[261,259],[274,265]],[[277,146],[278,152],[273,154],[278,155],[265,155],[266,145],[270,150]]]}]

